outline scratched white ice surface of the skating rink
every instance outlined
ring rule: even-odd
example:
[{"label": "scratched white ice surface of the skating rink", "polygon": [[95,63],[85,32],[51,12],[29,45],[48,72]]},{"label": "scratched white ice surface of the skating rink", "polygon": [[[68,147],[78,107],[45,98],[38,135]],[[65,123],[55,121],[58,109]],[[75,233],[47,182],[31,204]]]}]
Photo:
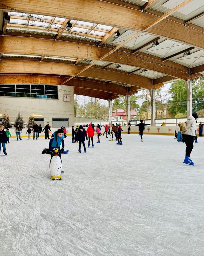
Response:
[{"label": "scratched white ice surface of the skating rink", "polygon": [[79,154],[68,136],[56,181],[41,154],[47,140],[10,139],[0,155],[0,255],[204,255],[204,138],[194,166],[173,136],[100,138]]}]

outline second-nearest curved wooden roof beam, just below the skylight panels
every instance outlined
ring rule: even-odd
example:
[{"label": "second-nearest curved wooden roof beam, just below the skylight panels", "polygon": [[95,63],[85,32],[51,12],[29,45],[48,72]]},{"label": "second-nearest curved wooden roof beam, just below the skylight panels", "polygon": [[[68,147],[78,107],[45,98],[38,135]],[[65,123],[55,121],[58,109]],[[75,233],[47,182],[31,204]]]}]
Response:
[{"label": "second-nearest curved wooden roof beam, just below the skylight panels", "polygon": [[[89,43],[79,41],[55,41],[50,39],[39,39],[22,36],[0,37],[0,53],[7,54],[35,54],[41,56],[76,57],[78,59],[98,60],[108,52],[107,47],[98,47]],[[127,49],[124,49],[128,51]],[[44,59],[45,60],[45,59]],[[119,51],[110,54],[104,61],[139,67],[156,72],[174,76],[179,79],[189,79],[189,68],[180,64],[165,61],[162,58],[137,52]],[[194,79],[195,77],[192,77]]]}]

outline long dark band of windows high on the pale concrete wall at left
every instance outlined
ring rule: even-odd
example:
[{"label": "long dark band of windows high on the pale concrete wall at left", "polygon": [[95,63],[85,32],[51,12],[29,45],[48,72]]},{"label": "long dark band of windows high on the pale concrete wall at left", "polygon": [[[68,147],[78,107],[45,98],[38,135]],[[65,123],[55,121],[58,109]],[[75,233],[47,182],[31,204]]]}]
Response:
[{"label": "long dark band of windows high on the pale concrete wall at left", "polygon": [[57,99],[57,85],[0,85],[0,96]]}]

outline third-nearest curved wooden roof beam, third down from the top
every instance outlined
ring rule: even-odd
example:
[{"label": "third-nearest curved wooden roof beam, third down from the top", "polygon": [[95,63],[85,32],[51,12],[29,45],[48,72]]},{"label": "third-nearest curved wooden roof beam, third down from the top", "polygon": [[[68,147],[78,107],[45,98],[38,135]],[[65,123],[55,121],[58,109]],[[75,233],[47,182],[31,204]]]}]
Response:
[{"label": "third-nearest curved wooden roof beam, third down from the top", "polygon": [[[84,66],[78,66],[74,64],[62,64],[54,62],[38,62],[27,60],[1,60],[0,61],[0,73],[39,73],[39,74],[56,74],[73,76],[77,72],[80,72]],[[134,85],[137,88],[152,88],[152,80],[146,77],[138,76],[135,74],[128,75],[127,72],[118,72],[117,70],[104,70],[103,68],[89,68],[83,72],[83,77],[102,79],[107,81],[115,81],[118,83],[124,83]],[[135,89],[137,89],[135,88]],[[153,86],[153,89],[157,89],[157,86]]]}]

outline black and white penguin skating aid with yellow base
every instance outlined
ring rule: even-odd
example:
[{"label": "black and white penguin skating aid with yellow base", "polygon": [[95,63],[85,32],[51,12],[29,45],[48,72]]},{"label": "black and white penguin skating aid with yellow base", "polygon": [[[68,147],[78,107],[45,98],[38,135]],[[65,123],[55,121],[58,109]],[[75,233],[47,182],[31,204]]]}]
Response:
[{"label": "black and white penguin skating aid with yellow base", "polygon": [[51,174],[51,180],[61,180],[61,171],[62,171],[62,160],[59,156],[60,148],[53,148],[52,157],[49,162],[49,169]]}]

